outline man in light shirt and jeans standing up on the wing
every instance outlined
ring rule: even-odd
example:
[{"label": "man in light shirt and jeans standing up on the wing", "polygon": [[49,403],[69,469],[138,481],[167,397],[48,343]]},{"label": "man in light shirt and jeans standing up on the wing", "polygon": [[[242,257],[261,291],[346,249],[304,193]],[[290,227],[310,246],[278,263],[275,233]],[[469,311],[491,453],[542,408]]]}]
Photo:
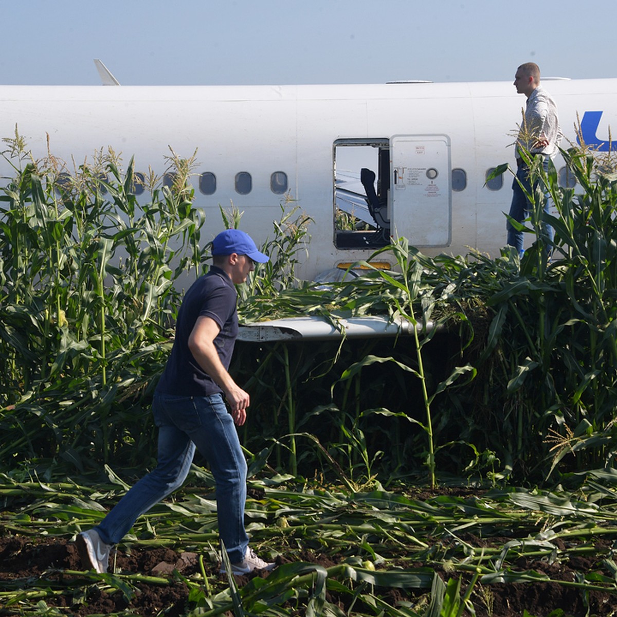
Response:
[{"label": "man in light shirt and jeans standing up on the wing", "polygon": [[[557,106],[547,91],[540,86],[540,68],[534,62],[521,64],[516,69],[514,85],[518,94],[527,97],[527,105],[524,112],[523,125],[516,139],[516,178],[512,183],[512,203],[510,205],[510,217],[521,223],[529,216],[531,204],[525,196],[521,184],[528,193],[533,188],[529,182],[529,167],[521,157],[521,147],[531,155],[542,157],[542,165],[545,172],[549,170],[549,159],[554,159],[559,151],[561,131],[557,117]],[[546,196],[544,212],[549,212],[549,196]],[[523,232],[516,231],[510,221],[506,223],[508,231],[508,244],[516,248],[520,255],[523,254]],[[542,223],[542,230],[546,234],[549,243],[549,252],[552,250],[554,231],[550,225]]]}]

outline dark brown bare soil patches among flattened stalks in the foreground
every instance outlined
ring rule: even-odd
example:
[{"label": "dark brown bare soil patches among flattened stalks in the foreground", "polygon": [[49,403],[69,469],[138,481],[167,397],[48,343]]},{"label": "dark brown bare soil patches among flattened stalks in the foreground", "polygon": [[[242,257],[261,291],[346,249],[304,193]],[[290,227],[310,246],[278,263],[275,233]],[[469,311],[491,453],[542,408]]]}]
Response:
[{"label": "dark brown bare soil patches among flattened stalks in the foreground", "polygon": [[[474,536],[465,538],[466,542],[480,547],[486,540]],[[600,553],[602,552],[602,547]],[[606,547],[608,553],[609,547]],[[114,557],[112,557],[113,559]],[[306,552],[299,555],[302,561],[318,563],[326,568],[334,565],[332,557]],[[566,563],[549,565],[545,561],[520,560],[516,568],[521,570],[532,569],[546,573],[550,578],[558,581],[574,581],[576,573],[602,571],[601,554],[594,557],[576,557]],[[284,558],[279,558],[279,565]],[[524,562],[524,563],[523,563]],[[70,571],[82,571],[80,558],[75,545],[66,539],[57,537],[27,537],[4,536],[0,537],[0,589],[33,590],[41,579],[46,581],[46,587],[62,590],[62,593],[53,597],[46,597],[48,606],[65,607],[62,611],[67,614],[107,615],[129,610],[131,614],[142,617],[151,617],[162,614],[172,617],[181,617],[191,610],[188,597],[188,587],[173,570],[184,576],[190,576],[198,571],[197,555],[194,553],[176,553],[164,548],[133,548],[130,552],[118,550],[115,553],[116,568],[123,573],[141,573],[147,576],[156,576],[166,579],[167,584],[143,584],[138,582],[138,593],[128,600],[121,591],[109,592],[101,590],[101,586],[90,584],[85,586],[83,578]],[[205,563],[206,573],[209,576],[224,576],[218,574],[218,565]],[[421,566],[423,564],[414,564]],[[447,573],[440,573],[447,580]],[[267,573],[253,576],[267,576]],[[247,578],[238,579],[239,586],[246,584]],[[463,581],[463,589],[465,588]],[[85,589],[85,594],[83,590]],[[396,605],[398,602],[416,602],[421,596],[428,597],[428,590],[383,589],[375,590],[386,602]],[[330,595],[329,601],[339,604],[343,610],[348,598]],[[491,586],[476,587],[472,597],[476,615],[478,617],[513,617],[523,615],[526,610],[534,617],[546,617],[551,611],[561,609],[563,615],[571,617],[582,616],[610,616],[617,613],[617,597],[597,591],[582,592],[574,587],[558,583],[524,583],[524,584],[493,584]],[[15,615],[16,607],[0,607],[0,615]],[[368,608],[368,607],[367,607]],[[70,611],[70,612],[69,612]],[[356,603],[354,611],[362,612],[362,607]],[[368,614],[372,611],[366,611]],[[467,614],[467,613],[465,613]]]}]

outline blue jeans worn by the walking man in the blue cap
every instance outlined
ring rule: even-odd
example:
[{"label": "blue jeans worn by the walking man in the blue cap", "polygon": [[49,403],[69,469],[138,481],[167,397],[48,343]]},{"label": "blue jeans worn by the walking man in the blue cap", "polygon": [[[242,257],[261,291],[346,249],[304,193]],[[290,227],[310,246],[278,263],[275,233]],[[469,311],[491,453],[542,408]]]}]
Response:
[{"label": "blue jeans worn by the walking man in the blue cap", "polygon": [[242,561],[249,544],[244,529],[247,465],[222,395],[155,394],[152,413],[159,427],[157,466],[97,526],[99,536],[107,544],[120,542],[139,516],[182,486],[197,447],[216,482],[218,534],[231,563]]}]

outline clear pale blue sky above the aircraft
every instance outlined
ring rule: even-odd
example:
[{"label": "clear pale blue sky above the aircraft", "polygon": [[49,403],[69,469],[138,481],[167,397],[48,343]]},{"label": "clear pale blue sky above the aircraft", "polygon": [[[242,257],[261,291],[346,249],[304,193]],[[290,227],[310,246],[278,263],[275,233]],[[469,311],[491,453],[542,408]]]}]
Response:
[{"label": "clear pale blue sky above the aircraft", "polygon": [[0,83],[617,77],[617,0],[0,0]]}]

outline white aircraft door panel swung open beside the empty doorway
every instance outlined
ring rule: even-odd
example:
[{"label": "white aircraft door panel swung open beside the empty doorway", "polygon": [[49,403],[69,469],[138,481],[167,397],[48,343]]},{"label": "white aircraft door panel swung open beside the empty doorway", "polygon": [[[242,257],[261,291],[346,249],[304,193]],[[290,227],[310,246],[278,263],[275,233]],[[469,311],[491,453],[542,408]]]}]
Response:
[{"label": "white aircraft door panel swung open beside the empty doorway", "polygon": [[412,246],[452,241],[450,138],[394,135],[390,140],[390,233]]}]

